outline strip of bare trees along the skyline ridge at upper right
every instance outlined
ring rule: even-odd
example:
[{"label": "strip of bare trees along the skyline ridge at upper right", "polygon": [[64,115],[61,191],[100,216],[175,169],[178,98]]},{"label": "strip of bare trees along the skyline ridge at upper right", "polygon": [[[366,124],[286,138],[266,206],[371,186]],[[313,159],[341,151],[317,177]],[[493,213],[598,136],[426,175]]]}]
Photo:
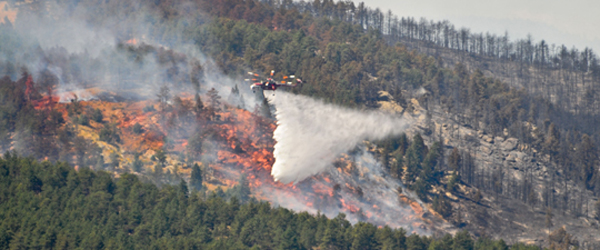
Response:
[{"label": "strip of bare trees along the skyline ridge at upper right", "polygon": [[[548,44],[545,40],[534,42],[531,37],[510,41],[507,33],[503,36],[472,33],[468,28],[456,28],[447,20],[434,22],[425,18],[416,20],[412,17],[398,17],[391,11],[383,12],[379,8],[369,8],[364,2],[355,4],[352,1],[334,0],[262,1],[270,8],[261,7],[253,1],[224,0],[211,3],[213,4],[204,8],[213,15],[241,18],[266,24],[268,27],[298,28],[300,23],[290,18],[310,14],[317,18],[326,17],[359,25],[365,30],[378,30],[392,43],[406,39],[420,40],[429,43],[428,46],[435,45],[549,69],[590,73],[593,79],[600,79],[600,61],[590,48],[569,49],[564,45]],[[256,15],[257,13],[261,15]]]}]

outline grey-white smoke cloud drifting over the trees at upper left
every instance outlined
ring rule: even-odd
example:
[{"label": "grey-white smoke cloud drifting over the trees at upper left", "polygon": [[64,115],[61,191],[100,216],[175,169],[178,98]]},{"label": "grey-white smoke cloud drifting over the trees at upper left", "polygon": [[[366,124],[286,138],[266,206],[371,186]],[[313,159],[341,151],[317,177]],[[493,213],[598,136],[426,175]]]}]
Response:
[{"label": "grey-white smoke cloud drifting over the trees at upper left", "polygon": [[[80,100],[106,97],[86,91],[94,87],[129,99],[153,99],[163,86],[172,93],[202,94],[215,88],[227,97],[238,85],[239,94],[229,98],[233,105],[252,110],[260,104],[241,77],[225,75],[195,40],[183,35],[184,26],[152,22],[163,17],[143,2],[126,4],[136,11],[123,13],[105,13],[107,6],[88,1],[76,7],[40,4],[19,9],[14,29],[7,34],[12,40],[0,47],[0,74],[16,80],[21,77],[18,71],[26,69],[37,87],[46,83],[43,74],[52,75],[56,82],[46,85],[54,86],[53,94],[62,102],[75,95]],[[182,20],[200,24],[209,20],[191,5],[174,6]],[[11,70],[6,69],[8,62],[14,65]],[[200,81],[199,88],[192,77]]]}]

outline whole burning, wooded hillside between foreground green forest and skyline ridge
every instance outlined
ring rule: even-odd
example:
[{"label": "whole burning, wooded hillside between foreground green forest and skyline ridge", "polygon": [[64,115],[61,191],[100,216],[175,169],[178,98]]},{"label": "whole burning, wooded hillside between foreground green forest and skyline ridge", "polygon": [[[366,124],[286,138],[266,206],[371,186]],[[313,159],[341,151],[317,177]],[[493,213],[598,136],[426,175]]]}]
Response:
[{"label": "whole burning, wooded hillside between foreground green forest and skyline ridge", "polygon": [[[595,68],[536,68],[414,37],[390,45],[383,16],[352,6],[19,4],[14,24],[0,24],[0,147],[159,185],[201,180],[197,189],[220,192],[248,181],[255,198],[353,223],[593,249],[600,137],[595,102],[581,95]],[[40,31],[52,24],[77,31],[60,33],[77,42]],[[302,76],[293,94],[416,122],[339,156],[328,172],[274,182],[277,107],[242,81],[271,70]]]}]

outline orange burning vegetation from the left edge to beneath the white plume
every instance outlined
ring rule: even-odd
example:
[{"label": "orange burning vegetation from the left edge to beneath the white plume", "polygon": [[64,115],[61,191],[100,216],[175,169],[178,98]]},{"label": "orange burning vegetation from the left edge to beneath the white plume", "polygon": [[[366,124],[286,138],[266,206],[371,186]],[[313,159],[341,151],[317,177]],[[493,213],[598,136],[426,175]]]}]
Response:
[{"label": "orange burning vegetation from the left edge to beneath the white plume", "polygon": [[[13,89],[21,107],[19,116],[42,117],[41,124],[25,127],[41,129],[30,137],[24,137],[27,131],[13,128],[6,140],[12,142],[4,145],[5,150],[116,176],[132,172],[158,184],[181,179],[197,184],[192,178],[198,177],[191,175],[199,167],[203,185],[192,185],[195,189],[218,191],[244,185],[251,196],[273,205],[329,217],[341,212],[353,222],[403,226],[420,233],[431,230],[427,209],[396,191],[401,184],[384,177],[368,151],[345,155],[330,171],[296,185],[274,181],[270,173],[275,122],[261,114],[265,108],[260,106],[249,112],[222,102],[215,89],[191,96],[172,95],[165,87],[155,99],[131,100],[96,88],[82,90],[94,93],[89,100],[74,95],[63,102],[55,91],[38,93],[31,81],[24,74],[17,82],[4,78],[1,84]],[[229,99],[241,97],[236,88],[231,95]],[[22,119],[26,118],[18,120]]]}]

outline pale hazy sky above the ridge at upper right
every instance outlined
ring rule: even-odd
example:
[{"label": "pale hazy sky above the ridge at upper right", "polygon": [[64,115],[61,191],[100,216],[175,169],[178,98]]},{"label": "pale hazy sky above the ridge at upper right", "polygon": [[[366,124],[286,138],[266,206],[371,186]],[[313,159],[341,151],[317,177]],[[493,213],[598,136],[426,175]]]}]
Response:
[{"label": "pale hazy sky above the ridge at upper right", "polygon": [[[508,31],[511,40],[531,34],[534,40],[564,44],[600,54],[598,0],[362,0],[371,8],[392,10],[399,17],[448,20],[456,28],[497,35]],[[360,1],[355,1],[360,2]]]}]

